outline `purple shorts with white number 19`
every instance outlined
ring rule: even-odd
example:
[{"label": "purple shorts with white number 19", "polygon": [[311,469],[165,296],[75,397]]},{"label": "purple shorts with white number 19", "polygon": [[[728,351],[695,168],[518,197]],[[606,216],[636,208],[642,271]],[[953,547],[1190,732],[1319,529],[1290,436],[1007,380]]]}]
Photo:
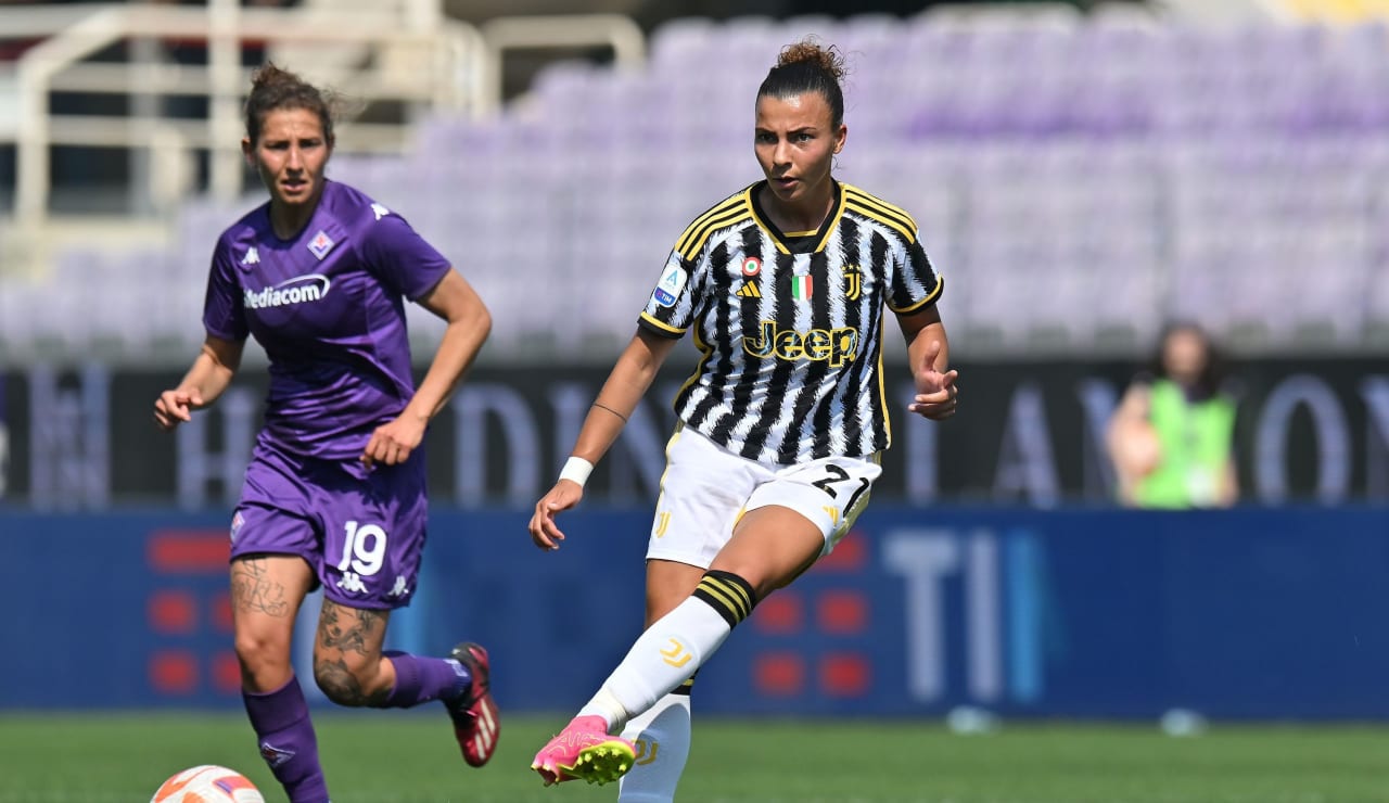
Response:
[{"label": "purple shorts with white number 19", "polygon": [[232,558],[297,554],[353,609],[410,604],[428,520],[425,454],[367,468],[256,445],[232,517]]}]

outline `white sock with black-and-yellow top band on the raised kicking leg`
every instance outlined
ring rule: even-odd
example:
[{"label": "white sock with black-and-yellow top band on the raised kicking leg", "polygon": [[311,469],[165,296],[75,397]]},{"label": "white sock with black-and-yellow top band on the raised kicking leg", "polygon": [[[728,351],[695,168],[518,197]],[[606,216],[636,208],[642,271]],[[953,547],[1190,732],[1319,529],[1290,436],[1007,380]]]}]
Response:
[{"label": "white sock with black-and-yellow top band on the raised kicking leg", "polygon": [[743,578],[708,571],[694,593],[656,620],[579,715],[601,715],[608,734],[675,690],[724,643],[733,625],[753,613],[753,589]]}]

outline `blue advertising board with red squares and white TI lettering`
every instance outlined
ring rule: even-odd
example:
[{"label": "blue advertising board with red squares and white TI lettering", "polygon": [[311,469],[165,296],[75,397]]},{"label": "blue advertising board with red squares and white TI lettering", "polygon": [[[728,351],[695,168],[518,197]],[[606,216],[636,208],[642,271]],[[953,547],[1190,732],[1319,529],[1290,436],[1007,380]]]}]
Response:
[{"label": "blue advertising board with red squares and white TI lettering", "polygon": [[[511,710],[582,704],[642,627],[640,510],[436,510],[388,646],[492,650]],[[225,514],[0,514],[0,707],[239,704]],[[1389,508],[881,506],[696,684],[718,713],[1389,718]],[[317,602],[300,615],[306,670]],[[311,686],[311,682],[307,685]],[[311,690],[311,689],[310,689]]]}]

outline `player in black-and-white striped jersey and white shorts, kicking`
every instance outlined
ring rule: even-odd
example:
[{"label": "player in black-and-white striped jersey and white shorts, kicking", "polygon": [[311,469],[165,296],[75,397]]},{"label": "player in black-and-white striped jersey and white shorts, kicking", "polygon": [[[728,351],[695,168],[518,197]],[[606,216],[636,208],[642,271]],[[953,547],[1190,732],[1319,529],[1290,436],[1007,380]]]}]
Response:
[{"label": "player in black-and-white striped jersey and white shorts, kicking", "polygon": [[[942,281],[907,213],[831,175],[845,146],[843,60],[786,47],[757,90],[764,181],[694,220],[632,342],[585,418],[531,538],[558,549],[578,504],[675,340],[703,358],[675,399],[646,564],[647,629],[579,715],[536,754],[546,785],[624,779],[622,800],[669,800],[689,750],[689,685],[757,600],[849,531],[888,447],[883,304],[908,343],[908,410],[946,418],[956,371],[936,311]],[[624,731],[625,729],[625,731]],[[622,734],[614,736],[614,734]]]}]

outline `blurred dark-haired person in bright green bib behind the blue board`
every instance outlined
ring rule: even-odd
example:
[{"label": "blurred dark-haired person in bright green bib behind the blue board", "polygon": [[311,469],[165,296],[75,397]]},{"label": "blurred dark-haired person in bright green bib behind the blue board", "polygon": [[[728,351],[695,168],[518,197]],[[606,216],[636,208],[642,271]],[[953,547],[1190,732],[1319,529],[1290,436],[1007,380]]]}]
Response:
[{"label": "blurred dark-haired person in bright green bib behind the blue board", "polygon": [[1235,400],[1210,338],[1168,325],[1151,367],[1135,376],[1110,420],[1118,499],[1132,507],[1226,507],[1239,497]]}]

